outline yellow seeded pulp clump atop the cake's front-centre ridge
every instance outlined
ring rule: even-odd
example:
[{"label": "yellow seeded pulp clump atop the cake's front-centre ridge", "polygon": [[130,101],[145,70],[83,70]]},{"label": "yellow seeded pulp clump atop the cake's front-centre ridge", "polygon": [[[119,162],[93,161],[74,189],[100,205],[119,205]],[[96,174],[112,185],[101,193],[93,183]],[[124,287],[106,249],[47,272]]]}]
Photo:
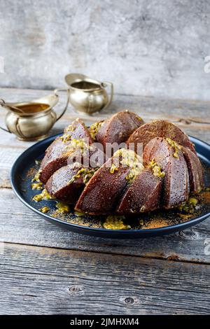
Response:
[{"label": "yellow seeded pulp clump atop the cake's front-centre ridge", "polygon": [[141,163],[141,157],[132,150],[120,148],[120,150],[114,153],[113,157],[119,158],[121,165],[130,168],[130,172],[125,177],[128,183],[132,183],[132,181],[134,181],[144,169],[144,166]]}]

